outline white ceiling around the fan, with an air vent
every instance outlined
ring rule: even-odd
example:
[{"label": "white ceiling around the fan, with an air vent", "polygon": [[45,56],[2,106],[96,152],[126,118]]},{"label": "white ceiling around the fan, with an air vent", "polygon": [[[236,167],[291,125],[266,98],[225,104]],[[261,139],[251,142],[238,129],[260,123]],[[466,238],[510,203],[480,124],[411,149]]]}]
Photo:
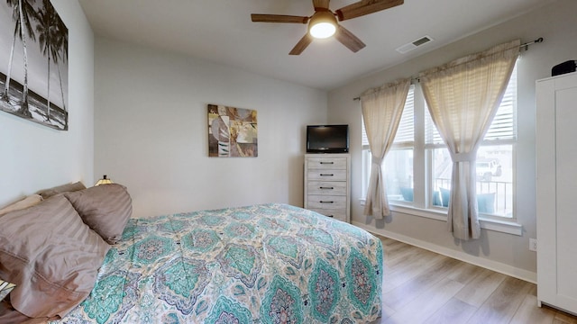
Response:
[{"label": "white ceiling around the fan, with an air vent", "polygon": [[[551,0],[405,0],[405,4],[341,22],[367,46],[357,53],[337,40],[315,40],[299,56],[290,49],[306,24],[252,23],[251,14],[311,15],[310,0],[79,0],[96,35],[160,48],[262,76],[330,90]],[[332,0],[341,8],[356,0]],[[428,35],[407,54],[395,49]]]}]

